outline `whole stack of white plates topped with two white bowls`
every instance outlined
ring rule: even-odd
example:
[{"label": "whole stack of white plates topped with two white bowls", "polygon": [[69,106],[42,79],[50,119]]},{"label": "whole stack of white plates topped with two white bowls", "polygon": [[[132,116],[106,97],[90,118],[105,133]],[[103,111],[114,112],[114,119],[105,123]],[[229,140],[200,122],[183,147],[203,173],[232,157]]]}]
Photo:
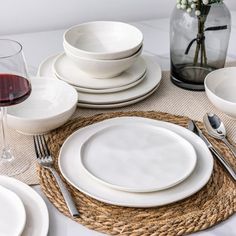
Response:
[{"label": "whole stack of white plates topped with two white bowls", "polygon": [[122,22],[98,21],[64,33],[64,52],[44,60],[39,76],[54,76],[72,85],[78,105],[121,107],[141,101],[158,88],[161,68],[141,55],[142,33]]}]

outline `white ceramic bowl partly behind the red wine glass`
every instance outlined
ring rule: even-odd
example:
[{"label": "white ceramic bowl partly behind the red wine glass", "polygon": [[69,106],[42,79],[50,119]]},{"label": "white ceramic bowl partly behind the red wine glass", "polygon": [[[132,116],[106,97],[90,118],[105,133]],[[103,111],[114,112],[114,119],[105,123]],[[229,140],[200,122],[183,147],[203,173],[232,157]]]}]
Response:
[{"label": "white ceramic bowl partly behind the red wine glass", "polygon": [[24,134],[47,133],[63,125],[74,113],[78,93],[55,78],[31,79],[32,92],[23,103],[8,108],[9,127]]}]

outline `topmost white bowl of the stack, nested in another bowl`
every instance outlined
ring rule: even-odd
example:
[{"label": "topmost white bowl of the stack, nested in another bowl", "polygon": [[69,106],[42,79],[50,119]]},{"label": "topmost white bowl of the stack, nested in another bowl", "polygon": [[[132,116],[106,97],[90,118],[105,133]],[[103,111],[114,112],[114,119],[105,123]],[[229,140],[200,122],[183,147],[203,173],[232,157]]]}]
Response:
[{"label": "topmost white bowl of the stack, nested in another bowl", "polygon": [[136,27],[115,21],[94,21],[69,28],[63,45],[83,58],[114,60],[129,57],[143,43],[143,34]]}]

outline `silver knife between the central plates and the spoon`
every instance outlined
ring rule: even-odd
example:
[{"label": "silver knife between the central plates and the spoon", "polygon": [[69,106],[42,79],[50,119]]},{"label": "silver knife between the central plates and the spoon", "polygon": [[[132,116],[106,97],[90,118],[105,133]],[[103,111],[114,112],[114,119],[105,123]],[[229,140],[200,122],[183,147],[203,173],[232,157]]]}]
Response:
[{"label": "silver knife between the central plates and the spoon", "polygon": [[212,146],[210,141],[206,138],[206,136],[202,133],[202,131],[197,127],[195,122],[193,120],[190,120],[188,122],[188,129],[197,134],[207,145],[209,150],[212,152],[212,154],[217,158],[217,160],[225,167],[225,169],[229,172],[231,177],[236,181],[236,172],[232,168],[232,166],[229,164],[227,160]]}]

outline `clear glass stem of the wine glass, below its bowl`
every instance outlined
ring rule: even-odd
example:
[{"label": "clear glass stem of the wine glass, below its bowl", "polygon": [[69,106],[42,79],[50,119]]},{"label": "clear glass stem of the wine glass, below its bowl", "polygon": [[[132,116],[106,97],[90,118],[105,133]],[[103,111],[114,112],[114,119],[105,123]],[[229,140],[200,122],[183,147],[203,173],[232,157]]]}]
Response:
[{"label": "clear glass stem of the wine glass, below its bowl", "polygon": [[1,158],[6,160],[6,161],[11,161],[13,159],[11,150],[8,146],[7,143],[7,138],[6,138],[6,120],[7,120],[7,108],[6,107],[1,107],[1,114],[2,114],[2,119],[1,119],[1,126],[2,126],[2,141],[3,141],[3,149],[2,149],[2,155]]}]

